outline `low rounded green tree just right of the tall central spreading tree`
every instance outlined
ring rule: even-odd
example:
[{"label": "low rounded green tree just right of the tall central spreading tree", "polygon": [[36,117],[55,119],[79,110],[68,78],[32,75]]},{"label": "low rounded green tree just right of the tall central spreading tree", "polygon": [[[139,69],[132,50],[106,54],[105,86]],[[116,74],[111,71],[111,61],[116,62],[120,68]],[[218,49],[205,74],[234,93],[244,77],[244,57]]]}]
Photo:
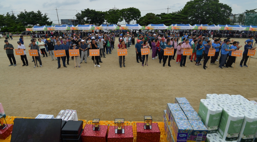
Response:
[{"label": "low rounded green tree just right of the tall central spreading tree", "polygon": [[145,16],[140,17],[136,23],[142,26],[147,26],[149,24],[160,24],[160,17],[154,13],[146,13]]}]

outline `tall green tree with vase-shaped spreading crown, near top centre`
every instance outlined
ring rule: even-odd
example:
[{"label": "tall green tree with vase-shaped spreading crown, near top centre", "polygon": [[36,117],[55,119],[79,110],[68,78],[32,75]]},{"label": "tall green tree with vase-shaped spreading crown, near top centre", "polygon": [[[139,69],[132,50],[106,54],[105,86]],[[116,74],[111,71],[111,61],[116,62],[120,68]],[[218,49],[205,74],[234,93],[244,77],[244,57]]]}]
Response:
[{"label": "tall green tree with vase-shaped spreading crown, near top centre", "polygon": [[127,24],[130,24],[132,20],[138,20],[141,17],[141,12],[139,9],[130,7],[121,10],[122,18]]}]

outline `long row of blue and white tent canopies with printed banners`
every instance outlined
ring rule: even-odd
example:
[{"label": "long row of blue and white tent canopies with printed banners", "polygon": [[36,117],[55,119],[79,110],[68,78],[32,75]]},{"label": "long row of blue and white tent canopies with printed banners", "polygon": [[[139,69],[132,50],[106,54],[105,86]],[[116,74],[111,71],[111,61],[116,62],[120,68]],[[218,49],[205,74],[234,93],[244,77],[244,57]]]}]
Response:
[{"label": "long row of blue and white tent canopies with printed banners", "polygon": [[62,26],[34,26],[26,28],[26,31],[57,31],[57,30],[238,30],[238,31],[257,31],[257,26],[244,26],[244,25],[207,25],[207,24],[171,24],[166,26],[164,24],[149,24],[147,26],[140,26],[139,24],[125,24],[124,26],[100,25],[94,24],[85,25],[62,25]]}]

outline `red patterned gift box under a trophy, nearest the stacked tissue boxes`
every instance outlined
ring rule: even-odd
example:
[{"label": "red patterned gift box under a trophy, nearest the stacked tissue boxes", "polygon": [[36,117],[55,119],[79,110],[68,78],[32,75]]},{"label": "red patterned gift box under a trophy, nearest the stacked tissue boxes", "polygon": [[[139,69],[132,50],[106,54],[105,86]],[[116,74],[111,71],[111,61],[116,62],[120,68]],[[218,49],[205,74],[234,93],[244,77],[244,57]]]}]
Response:
[{"label": "red patterned gift box under a trophy, nearest the stacked tissue boxes", "polygon": [[152,123],[152,129],[144,129],[144,123],[136,123],[137,142],[159,142],[160,136],[158,123]]}]

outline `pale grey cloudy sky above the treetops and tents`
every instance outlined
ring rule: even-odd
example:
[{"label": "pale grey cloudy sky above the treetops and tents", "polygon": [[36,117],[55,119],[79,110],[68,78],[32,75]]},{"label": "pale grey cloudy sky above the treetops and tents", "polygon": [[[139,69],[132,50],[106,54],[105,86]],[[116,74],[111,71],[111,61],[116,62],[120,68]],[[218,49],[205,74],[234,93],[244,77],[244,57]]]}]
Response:
[{"label": "pale grey cloudy sky above the treetops and tents", "polygon": [[[172,11],[178,11],[185,6],[189,0],[164,0],[161,3],[156,0],[132,0],[132,1],[116,1],[116,0],[54,0],[54,1],[27,1],[27,0],[8,0],[0,1],[0,14],[6,14],[6,12],[11,13],[14,11],[17,15],[20,11],[37,11],[40,10],[42,13],[47,13],[53,23],[58,24],[56,7],[59,16],[59,21],[61,19],[76,19],[76,13],[84,10],[86,8],[95,9],[97,11],[108,11],[109,9],[118,8],[128,8],[135,7],[141,11],[141,16],[146,13],[167,13],[169,6],[169,13]],[[232,13],[238,14],[243,13],[245,10],[251,10],[257,8],[257,1],[240,1],[240,0],[220,0],[221,3],[227,4],[232,7]],[[125,23],[125,22],[124,22]],[[133,22],[131,22],[132,24]],[[123,24],[121,22],[120,24]]]}]

